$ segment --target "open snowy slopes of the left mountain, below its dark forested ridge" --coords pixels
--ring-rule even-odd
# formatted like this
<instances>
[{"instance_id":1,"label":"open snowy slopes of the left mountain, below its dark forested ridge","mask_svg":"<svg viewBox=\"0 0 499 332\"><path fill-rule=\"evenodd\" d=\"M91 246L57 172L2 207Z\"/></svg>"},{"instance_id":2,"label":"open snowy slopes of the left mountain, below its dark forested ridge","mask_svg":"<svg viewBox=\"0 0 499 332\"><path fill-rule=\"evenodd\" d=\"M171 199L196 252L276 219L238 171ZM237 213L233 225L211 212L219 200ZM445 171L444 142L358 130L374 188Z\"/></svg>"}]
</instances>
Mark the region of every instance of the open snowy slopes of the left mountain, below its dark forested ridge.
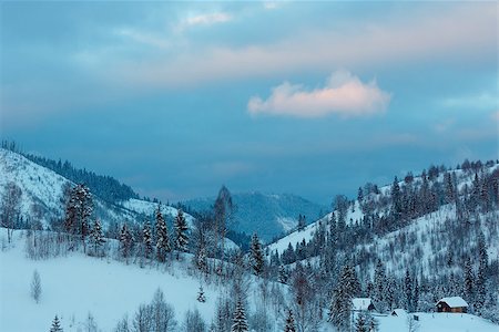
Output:
<instances>
[{"instance_id":1,"label":"open snowy slopes of the left mountain, below its dark forested ridge","mask_svg":"<svg viewBox=\"0 0 499 332\"><path fill-rule=\"evenodd\" d=\"M44 226L63 216L65 190L74 186L55 172L18 153L0 148L0 197L9 183L14 183L21 189L21 217L24 220L38 218ZM157 208L157 204L134 198L118 204L108 203L95 195L93 198L95 214L104 225L125 220L141 222L145 217L151 219ZM177 214L177 209L170 206L162 206L162 211L170 218ZM186 215L186 219L192 225L193 217Z\"/></svg>"}]
</instances>

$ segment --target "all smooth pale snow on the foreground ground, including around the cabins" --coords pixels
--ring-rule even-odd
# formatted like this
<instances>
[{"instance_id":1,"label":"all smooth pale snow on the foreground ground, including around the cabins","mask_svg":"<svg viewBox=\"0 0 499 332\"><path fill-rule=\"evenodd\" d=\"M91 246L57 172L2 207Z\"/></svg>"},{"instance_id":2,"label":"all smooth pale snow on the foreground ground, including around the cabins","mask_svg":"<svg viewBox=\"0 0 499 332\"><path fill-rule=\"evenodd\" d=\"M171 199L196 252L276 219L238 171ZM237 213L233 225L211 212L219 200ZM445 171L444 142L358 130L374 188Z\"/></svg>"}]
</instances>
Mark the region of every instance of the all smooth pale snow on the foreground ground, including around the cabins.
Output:
<instances>
[{"instance_id":1,"label":"all smooth pale snow on the foreground ground, including around the cabins","mask_svg":"<svg viewBox=\"0 0 499 332\"><path fill-rule=\"evenodd\" d=\"M43 235L38 235L39 239ZM197 311L205 326L216 319L221 297L231 292L228 286L206 283L190 272L189 255L183 261L172 266L154 267L128 264L116 260L116 252L106 258L93 258L81 252L71 252L42 260L31 260L26 255L26 232L16 231L13 243L6 245L6 232L0 228L0 330L40 331L49 330L52 318L60 318L64 331L115 331L123 318L134 326L140 304L149 303L160 289L167 305L173 308L175 328L167 331L192 332L185 326L186 313ZM112 249L111 252L113 252ZM41 280L41 295L37 303L30 297L30 283L37 270ZM196 300L200 284L204 288L205 302ZM259 286L258 286L259 284ZM274 283L273 283L274 284ZM252 324L257 319L258 305L265 302L257 279L252 278L247 290L247 317ZM274 284L275 287L276 284ZM282 287L285 299L287 287ZM273 291L275 293L275 291ZM7 300L6 300L7 299ZM74 301L78 299L78 301ZM119 299L119 300L116 300ZM267 304L268 332L282 331L283 317ZM30 319L22 314L30 312ZM419 317L419 332L467 332L497 331L498 325L472 314L416 313ZM89 320L89 317L92 319ZM406 317L376 314L379 332L406 331ZM135 330L131 330L135 331ZM201 330L205 331L205 330ZM332 331L328 323L322 322L318 332Z\"/></svg>"}]
</instances>

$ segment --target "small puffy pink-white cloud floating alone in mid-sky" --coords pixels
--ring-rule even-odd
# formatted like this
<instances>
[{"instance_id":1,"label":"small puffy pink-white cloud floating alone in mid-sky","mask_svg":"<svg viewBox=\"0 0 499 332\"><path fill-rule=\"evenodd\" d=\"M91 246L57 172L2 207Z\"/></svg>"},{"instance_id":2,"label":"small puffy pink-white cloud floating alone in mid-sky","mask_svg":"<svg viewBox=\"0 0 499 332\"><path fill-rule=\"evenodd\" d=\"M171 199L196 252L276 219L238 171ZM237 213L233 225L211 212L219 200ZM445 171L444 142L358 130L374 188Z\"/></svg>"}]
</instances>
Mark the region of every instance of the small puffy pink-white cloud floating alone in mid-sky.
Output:
<instances>
[{"instance_id":1,"label":"small puffy pink-white cloud floating alone in mid-sky","mask_svg":"<svg viewBox=\"0 0 499 332\"><path fill-rule=\"evenodd\" d=\"M251 114L320 117L327 114L361 116L384 112L390 94L375 81L363 83L347 71L337 71L324 87L306 90L303 85L284 82L272 90L267 100L254 96L247 104Z\"/></svg>"}]
</instances>

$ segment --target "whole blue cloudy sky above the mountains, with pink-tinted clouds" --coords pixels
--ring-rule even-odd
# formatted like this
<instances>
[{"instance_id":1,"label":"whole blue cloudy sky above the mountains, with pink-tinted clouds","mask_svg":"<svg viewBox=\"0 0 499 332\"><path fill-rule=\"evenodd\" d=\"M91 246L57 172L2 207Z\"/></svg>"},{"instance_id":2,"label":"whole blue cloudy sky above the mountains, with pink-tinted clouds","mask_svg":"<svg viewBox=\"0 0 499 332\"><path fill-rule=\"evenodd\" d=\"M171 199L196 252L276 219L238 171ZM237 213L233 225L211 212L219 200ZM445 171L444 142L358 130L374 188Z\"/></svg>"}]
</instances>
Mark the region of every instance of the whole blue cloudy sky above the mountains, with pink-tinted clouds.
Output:
<instances>
[{"instance_id":1,"label":"whole blue cloudy sky above the mountains, with pink-tinted clouds","mask_svg":"<svg viewBox=\"0 0 499 332\"><path fill-rule=\"evenodd\" d=\"M162 200L498 157L498 3L0 2L0 136Z\"/></svg>"}]
</instances>

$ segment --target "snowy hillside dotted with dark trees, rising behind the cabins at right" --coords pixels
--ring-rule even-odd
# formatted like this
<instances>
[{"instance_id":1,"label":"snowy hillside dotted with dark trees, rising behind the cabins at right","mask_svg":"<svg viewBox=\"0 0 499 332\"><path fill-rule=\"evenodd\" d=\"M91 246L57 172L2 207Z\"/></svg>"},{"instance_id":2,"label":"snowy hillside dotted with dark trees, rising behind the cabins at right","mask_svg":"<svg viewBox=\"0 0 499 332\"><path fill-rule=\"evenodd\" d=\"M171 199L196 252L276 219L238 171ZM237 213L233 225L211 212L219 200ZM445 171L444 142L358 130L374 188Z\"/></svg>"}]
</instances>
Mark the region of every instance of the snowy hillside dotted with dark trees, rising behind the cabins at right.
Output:
<instances>
[{"instance_id":1,"label":"snowy hillside dotted with dark trees, rising behind the cabins at right","mask_svg":"<svg viewBox=\"0 0 499 332\"><path fill-rule=\"evenodd\" d=\"M337 197L333 212L268 245L267 261L279 280L297 270L315 276L318 292L355 287L345 279L354 273L355 292L380 312L429 312L459 295L468 312L499 322L498 169L465 160L380 188L367 184L358 199Z\"/></svg>"}]
</instances>

